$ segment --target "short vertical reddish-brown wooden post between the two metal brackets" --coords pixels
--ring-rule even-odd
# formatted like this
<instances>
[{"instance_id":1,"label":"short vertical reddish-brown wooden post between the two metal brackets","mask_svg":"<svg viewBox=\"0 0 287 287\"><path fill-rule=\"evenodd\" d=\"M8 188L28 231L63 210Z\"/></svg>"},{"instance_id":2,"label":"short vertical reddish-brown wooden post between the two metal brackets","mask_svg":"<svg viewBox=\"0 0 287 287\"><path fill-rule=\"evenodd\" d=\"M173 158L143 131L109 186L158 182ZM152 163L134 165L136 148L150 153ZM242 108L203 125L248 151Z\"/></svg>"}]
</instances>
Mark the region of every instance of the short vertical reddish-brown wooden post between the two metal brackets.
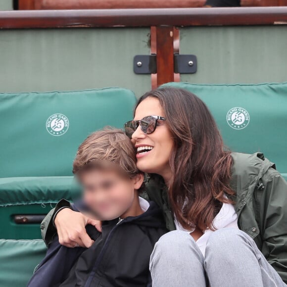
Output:
<instances>
[{"instance_id":1,"label":"short vertical reddish-brown wooden post between the two metal brackets","mask_svg":"<svg viewBox=\"0 0 287 287\"><path fill-rule=\"evenodd\" d=\"M157 86L174 81L173 26L156 27Z\"/></svg>"}]
</instances>

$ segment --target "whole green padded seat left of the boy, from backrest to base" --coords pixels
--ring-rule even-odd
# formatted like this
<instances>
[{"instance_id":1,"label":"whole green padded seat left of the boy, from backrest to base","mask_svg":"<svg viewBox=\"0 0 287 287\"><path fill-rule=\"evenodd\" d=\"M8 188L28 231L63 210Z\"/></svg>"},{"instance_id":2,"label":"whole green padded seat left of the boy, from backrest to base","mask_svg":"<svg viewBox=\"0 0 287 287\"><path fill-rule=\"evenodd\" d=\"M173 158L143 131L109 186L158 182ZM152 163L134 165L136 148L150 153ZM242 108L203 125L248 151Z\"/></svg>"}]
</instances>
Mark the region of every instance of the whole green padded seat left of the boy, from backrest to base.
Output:
<instances>
[{"instance_id":1,"label":"whole green padded seat left of the boy, from backrest to base","mask_svg":"<svg viewBox=\"0 0 287 287\"><path fill-rule=\"evenodd\" d=\"M72 162L79 144L106 125L121 128L135 102L120 88L0 94L1 287L26 286L44 257L33 220L59 199L77 196Z\"/></svg>"}]
</instances>

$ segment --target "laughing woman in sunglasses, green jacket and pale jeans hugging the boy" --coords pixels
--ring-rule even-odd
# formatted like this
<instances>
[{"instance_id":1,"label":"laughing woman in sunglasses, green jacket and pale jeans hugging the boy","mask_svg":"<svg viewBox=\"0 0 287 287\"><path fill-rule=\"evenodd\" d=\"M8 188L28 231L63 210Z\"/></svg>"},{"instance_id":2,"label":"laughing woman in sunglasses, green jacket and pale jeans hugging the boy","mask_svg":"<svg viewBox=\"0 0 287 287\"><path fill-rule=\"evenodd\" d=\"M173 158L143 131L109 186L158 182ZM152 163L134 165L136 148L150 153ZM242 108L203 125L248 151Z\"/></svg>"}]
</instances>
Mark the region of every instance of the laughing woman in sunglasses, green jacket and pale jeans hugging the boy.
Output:
<instances>
[{"instance_id":1,"label":"laughing woman in sunglasses, green jacket and pale jeans hugging the boy","mask_svg":"<svg viewBox=\"0 0 287 287\"><path fill-rule=\"evenodd\" d=\"M171 231L150 258L154 287L286 286L287 183L273 163L225 149L206 105L181 89L146 93L125 130ZM85 225L100 223L63 207L44 239L53 218L62 244L89 247Z\"/></svg>"}]
</instances>

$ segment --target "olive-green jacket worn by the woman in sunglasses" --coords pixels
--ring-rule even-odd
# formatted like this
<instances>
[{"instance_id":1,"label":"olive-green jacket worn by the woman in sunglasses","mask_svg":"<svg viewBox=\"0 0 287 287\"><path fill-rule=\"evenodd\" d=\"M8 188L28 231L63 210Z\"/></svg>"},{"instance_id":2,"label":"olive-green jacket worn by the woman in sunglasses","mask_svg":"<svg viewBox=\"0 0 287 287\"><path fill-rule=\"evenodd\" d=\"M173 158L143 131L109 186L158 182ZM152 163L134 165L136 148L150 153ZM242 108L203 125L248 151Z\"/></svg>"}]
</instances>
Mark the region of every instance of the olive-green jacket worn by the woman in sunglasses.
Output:
<instances>
[{"instance_id":1,"label":"olive-green jacket worn by the woman in sunglasses","mask_svg":"<svg viewBox=\"0 0 287 287\"><path fill-rule=\"evenodd\" d=\"M275 164L260 152L233 152L231 187L236 193L239 228L253 238L268 262L287 283L287 182ZM174 230L167 189L155 180L145 183L148 197L161 208L168 230ZM59 208L57 206L56 208ZM49 243L56 230L52 210L43 220L42 237Z\"/></svg>"}]
</instances>

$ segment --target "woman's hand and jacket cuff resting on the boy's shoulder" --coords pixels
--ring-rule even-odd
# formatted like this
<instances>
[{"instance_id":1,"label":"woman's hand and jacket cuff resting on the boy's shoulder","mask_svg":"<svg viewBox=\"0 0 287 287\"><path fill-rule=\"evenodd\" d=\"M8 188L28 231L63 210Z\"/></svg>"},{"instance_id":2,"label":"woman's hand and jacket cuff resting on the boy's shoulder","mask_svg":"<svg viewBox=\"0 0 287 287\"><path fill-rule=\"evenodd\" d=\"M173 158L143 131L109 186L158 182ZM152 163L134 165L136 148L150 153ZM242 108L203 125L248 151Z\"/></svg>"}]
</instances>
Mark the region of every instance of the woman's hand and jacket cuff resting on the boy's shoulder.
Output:
<instances>
[{"instance_id":1,"label":"woman's hand and jacket cuff resting on the boy's shoulder","mask_svg":"<svg viewBox=\"0 0 287 287\"><path fill-rule=\"evenodd\" d=\"M75 247L79 244L82 247L89 248L94 242L86 232L86 226L89 224L95 226L101 232L100 221L72 210L70 203L62 199L42 221L42 238L48 245L57 233L61 245Z\"/></svg>"}]
</instances>

